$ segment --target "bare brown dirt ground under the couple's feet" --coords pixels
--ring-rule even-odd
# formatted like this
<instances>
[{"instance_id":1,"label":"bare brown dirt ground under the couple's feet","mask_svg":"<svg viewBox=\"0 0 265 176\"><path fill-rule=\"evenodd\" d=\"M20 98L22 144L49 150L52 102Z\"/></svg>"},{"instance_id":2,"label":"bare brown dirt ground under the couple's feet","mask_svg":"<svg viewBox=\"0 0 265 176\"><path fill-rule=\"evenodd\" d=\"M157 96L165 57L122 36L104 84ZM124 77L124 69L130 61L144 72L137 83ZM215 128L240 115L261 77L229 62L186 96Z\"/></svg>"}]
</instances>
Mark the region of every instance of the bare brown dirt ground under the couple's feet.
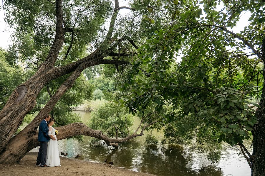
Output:
<instances>
[{"instance_id":1,"label":"bare brown dirt ground under the couple's feet","mask_svg":"<svg viewBox=\"0 0 265 176\"><path fill-rule=\"evenodd\" d=\"M143 172L134 172L119 167L92 163L88 161L60 157L61 167L36 166L37 153L29 152L20 164L0 165L1 176L41 176L41 175L86 175L86 176L155 176Z\"/></svg>"}]
</instances>

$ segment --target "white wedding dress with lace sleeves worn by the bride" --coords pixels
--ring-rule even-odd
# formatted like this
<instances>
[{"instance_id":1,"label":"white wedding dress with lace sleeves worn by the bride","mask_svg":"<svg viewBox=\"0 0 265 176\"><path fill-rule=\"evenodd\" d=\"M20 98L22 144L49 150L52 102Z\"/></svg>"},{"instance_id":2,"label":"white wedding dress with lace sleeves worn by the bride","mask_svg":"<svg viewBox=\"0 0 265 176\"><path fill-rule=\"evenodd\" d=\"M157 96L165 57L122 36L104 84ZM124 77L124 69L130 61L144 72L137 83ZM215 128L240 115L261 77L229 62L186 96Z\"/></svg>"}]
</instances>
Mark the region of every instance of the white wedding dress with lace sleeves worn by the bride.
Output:
<instances>
[{"instance_id":1,"label":"white wedding dress with lace sleeves worn by the bride","mask_svg":"<svg viewBox=\"0 0 265 176\"><path fill-rule=\"evenodd\" d=\"M55 129L52 126L49 127L49 136L50 135L52 135L55 140L50 138L48 142L46 165L50 167L61 166Z\"/></svg>"}]
</instances>

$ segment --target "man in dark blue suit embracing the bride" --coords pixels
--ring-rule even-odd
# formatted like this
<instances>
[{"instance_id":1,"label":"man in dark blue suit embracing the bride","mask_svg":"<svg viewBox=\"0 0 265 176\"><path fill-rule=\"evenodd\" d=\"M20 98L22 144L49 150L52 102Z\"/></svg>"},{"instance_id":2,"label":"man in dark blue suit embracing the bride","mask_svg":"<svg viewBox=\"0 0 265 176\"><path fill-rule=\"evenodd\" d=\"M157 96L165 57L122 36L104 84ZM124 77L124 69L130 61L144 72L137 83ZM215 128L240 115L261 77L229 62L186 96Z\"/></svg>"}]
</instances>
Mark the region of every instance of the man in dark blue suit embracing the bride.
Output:
<instances>
[{"instance_id":1,"label":"man in dark blue suit embracing the bride","mask_svg":"<svg viewBox=\"0 0 265 176\"><path fill-rule=\"evenodd\" d=\"M50 137L48 135L49 128L47 122L50 119L51 116L49 114L46 114L44 116L44 119L39 124L39 135L38 135L39 153L36 165L38 166L41 163L41 167L49 167L46 165L46 154L47 154L48 141L50 140Z\"/></svg>"}]
</instances>

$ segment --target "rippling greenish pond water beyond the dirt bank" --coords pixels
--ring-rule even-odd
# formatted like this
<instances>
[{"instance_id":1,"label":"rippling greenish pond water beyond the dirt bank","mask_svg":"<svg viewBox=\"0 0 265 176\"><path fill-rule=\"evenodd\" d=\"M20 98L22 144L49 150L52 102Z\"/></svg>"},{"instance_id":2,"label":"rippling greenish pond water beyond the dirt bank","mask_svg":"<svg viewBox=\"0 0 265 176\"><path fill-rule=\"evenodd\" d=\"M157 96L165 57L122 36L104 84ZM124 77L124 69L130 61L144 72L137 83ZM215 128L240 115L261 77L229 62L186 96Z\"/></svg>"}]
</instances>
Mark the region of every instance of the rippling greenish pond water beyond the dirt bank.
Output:
<instances>
[{"instance_id":1,"label":"rippling greenish pond water beyond the dirt bank","mask_svg":"<svg viewBox=\"0 0 265 176\"><path fill-rule=\"evenodd\" d=\"M75 111L82 116L83 123L87 123L90 112ZM136 129L139 121L135 120L132 128ZM144 134L147 134L145 132ZM156 131L152 132L159 140L163 135ZM242 154L238 155L239 148L231 147L223 143L221 149L221 160L217 164L205 159L198 151L191 151L189 146L179 148L163 149L161 145L157 148L147 148L145 136L137 137L126 143L119 144L119 148L109 147L100 141L101 145L91 145L93 139L84 136L83 142L63 139L58 141L59 152L67 152L68 158L74 158L80 154L80 160L104 163L104 158L112 161L116 167L122 167L133 171L147 172L158 176L249 176L251 170ZM247 148L251 141L245 141ZM37 152L34 148L31 151Z\"/></svg>"}]
</instances>

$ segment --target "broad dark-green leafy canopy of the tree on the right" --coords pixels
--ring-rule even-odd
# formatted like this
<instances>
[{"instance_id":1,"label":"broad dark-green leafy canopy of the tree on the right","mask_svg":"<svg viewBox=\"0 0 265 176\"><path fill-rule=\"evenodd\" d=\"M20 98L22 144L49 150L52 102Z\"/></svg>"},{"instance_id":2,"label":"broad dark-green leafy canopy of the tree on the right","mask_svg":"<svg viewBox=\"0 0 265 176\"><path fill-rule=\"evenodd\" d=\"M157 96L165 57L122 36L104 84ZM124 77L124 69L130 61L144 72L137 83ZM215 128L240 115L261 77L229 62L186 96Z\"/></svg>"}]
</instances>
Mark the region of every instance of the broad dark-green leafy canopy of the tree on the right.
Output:
<instances>
[{"instance_id":1,"label":"broad dark-green leafy canopy of the tree on the right","mask_svg":"<svg viewBox=\"0 0 265 176\"><path fill-rule=\"evenodd\" d=\"M217 11L221 2L223 11ZM126 106L132 113L144 112L153 103L158 112L163 105L173 104L178 111L165 116L164 123L182 119L192 122L189 116L194 116L211 132L213 142L225 141L233 146L250 139L250 131L257 122L255 109L249 104L259 97L263 83L263 68L259 67L262 60L257 53L261 53L264 31L264 20L258 14L265 4L200 4L203 7L190 1L177 24L155 31L139 49L122 90L130 86L136 90L126 97ZM250 25L235 34L228 28L236 25L244 10L253 14ZM248 48L251 50L245 52ZM180 54L183 57L176 62ZM203 125L198 130L203 131Z\"/></svg>"}]
</instances>

